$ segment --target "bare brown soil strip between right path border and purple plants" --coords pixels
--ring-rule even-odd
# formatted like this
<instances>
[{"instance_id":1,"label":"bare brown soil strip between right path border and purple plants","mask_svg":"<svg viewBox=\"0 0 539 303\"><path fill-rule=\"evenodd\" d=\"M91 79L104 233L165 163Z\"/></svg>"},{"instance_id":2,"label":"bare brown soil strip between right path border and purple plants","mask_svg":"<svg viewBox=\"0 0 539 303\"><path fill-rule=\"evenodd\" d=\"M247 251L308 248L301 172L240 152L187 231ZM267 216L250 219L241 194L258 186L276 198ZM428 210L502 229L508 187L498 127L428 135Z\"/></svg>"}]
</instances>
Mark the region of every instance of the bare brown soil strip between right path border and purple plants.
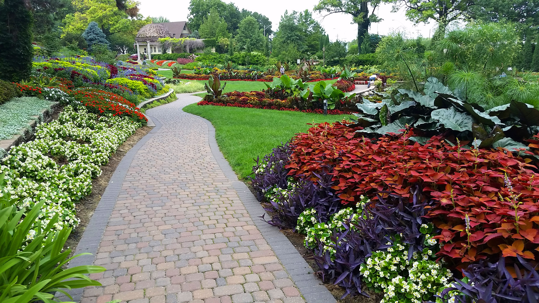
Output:
<instances>
[{"instance_id":1,"label":"bare brown soil strip between right path border and purple plants","mask_svg":"<svg viewBox=\"0 0 539 303\"><path fill-rule=\"evenodd\" d=\"M253 193L254 196L257 196L257 192L254 190L254 188L251 185L251 181L243 180L248 188L250 189L251 193ZM265 205L265 203L262 203L262 206L267 207L271 206L269 204ZM266 212L267 213L267 212ZM269 216L269 213L267 213ZM268 217L266 217L267 219ZM333 297L337 300L338 303L378 303L383 298L383 293L372 293L368 290L363 290L363 292L370 295L370 298L366 297L365 295L356 295L355 297L351 297L348 295L347 297L341 299L342 295L344 294L344 288L338 285L335 285L333 283L330 283L329 279L326 278L326 280L322 280L322 275L320 273L320 267L316 265L316 262L313 258L313 253L310 252L305 246L303 246L303 240L305 239L304 235L300 235L297 232L294 232L292 229L281 229L282 234L284 234L288 241L292 243L292 245L295 246L295 248L298 250L298 252L301 254L303 259L309 264L309 266L315 271L315 275L322 281L324 286L328 288L328 291L333 294Z\"/></svg>"}]
</instances>

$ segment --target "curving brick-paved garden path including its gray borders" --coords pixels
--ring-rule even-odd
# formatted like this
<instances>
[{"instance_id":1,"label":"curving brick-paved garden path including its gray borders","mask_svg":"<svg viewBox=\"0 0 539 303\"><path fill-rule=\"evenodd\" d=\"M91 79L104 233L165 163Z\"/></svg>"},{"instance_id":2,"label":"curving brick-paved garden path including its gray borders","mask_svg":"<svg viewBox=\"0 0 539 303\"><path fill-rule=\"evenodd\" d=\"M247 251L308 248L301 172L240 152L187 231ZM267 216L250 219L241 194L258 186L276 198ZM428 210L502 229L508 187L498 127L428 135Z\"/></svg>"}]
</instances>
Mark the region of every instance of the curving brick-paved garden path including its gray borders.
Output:
<instances>
[{"instance_id":1,"label":"curving brick-paved garden path including its gray borders","mask_svg":"<svg viewBox=\"0 0 539 303\"><path fill-rule=\"evenodd\" d=\"M71 266L106 267L81 303L335 302L219 152L215 130L182 111L149 109L156 127L126 154Z\"/></svg>"}]
</instances>

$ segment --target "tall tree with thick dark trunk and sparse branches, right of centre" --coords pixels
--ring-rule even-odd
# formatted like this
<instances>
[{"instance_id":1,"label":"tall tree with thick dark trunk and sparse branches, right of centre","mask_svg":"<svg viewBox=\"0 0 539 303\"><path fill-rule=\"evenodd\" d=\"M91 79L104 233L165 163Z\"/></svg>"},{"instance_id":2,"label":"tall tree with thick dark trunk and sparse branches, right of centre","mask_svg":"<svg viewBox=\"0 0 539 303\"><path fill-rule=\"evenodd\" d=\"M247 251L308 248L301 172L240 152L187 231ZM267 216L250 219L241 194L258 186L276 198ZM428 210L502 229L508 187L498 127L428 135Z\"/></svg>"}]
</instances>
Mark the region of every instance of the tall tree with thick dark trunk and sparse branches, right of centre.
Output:
<instances>
[{"instance_id":1,"label":"tall tree with thick dark trunk and sparse branches, right of centre","mask_svg":"<svg viewBox=\"0 0 539 303\"><path fill-rule=\"evenodd\" d=\"M369 31L371 22L379 22L379 19L374 11L380 0L320 0L314 7L315 11L326 12L325 16L333 13L347 13L351 15L354 23L357 24L357 43L361 45L365 33ZM369 5L373 13L369 15Z\"/></svg>"}]
</instances>

